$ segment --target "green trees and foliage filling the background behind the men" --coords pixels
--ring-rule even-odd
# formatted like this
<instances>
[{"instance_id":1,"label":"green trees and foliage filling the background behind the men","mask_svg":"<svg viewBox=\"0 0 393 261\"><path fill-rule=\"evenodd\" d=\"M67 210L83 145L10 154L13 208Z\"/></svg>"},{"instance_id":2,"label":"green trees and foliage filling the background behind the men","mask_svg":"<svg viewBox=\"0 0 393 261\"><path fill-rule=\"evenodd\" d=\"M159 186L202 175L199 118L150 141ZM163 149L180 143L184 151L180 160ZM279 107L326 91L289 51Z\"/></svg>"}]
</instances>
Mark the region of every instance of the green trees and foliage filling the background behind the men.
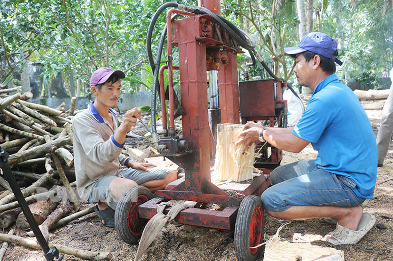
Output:
<instances>
[{"instance_id":1,"label":"green trees and foliage filling the background behind the men","mask_svg":"<svg viewBox=\"0 0 393 261\"><path fill-rule=\"evenodd\" d=\"M197 5L197 0L172 1ZM46 77L63 72L86 83L92 71L104 66L141 79L140 70L148 68L148 26L165 2L2 0L0 83L16 77L27 59L41 63ZM296 46L300 36L310 31L337 40L344 61L338 73L343 78L380 76L393 66L392 0L222 0L221 8L222 16L252 34L256 50L285 79L293 75L293 60L283 48ZM164 25L162 15L153 45ZM250 57L238 57L242 75ZM253 71L254 76L258 71Z\"/></svg>"}]
</instances>

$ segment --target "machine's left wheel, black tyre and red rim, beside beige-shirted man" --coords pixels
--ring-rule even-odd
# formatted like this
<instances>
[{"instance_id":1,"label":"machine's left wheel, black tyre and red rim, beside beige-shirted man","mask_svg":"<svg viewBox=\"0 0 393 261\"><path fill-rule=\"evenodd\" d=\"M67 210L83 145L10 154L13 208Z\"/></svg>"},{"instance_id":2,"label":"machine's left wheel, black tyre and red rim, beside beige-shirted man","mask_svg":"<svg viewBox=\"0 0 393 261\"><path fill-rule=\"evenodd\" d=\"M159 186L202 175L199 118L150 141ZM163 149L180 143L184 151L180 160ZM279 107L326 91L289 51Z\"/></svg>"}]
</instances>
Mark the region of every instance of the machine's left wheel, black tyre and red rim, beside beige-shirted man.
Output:
<instances>
[{"instance_id":1,"label":"machine's left wheel, black tyre and red rim, beside beige-shirted man","mask_svg":"<svg viewBox=\"0 0 393 261\"><path fill-rule=\"evenodd\" d=\"M138 244L147 219L139 218L139 206L153 198L153 193L142 186L127 190L117 202L114 212L114 227L117 235L129 244Z\"/></svg>"}]
</instances>

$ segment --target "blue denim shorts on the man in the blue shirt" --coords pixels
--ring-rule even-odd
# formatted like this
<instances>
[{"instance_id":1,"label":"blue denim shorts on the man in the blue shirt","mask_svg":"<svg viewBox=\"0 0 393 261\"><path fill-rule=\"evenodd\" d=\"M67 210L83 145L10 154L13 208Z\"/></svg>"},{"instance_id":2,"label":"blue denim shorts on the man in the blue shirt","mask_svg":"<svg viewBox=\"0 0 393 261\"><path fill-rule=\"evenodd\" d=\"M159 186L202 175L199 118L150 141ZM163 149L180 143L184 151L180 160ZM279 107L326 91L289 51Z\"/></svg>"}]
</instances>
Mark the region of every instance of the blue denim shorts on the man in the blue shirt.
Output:
<instances>
[{"instance_id":1,"label":"blue denim shorts on the man in the blue shirt","mask_svg":"<svg viewBox=\"0 0 393 261\"><path fill-rule=\"evenodd\" d=\"M355 207L365 201L352 191L356 187L353 180L316 167L314 160L279 166L270 178L273 186L261 199L264 209L272 212L291 206Z\"/></svg>"}]
</instances>

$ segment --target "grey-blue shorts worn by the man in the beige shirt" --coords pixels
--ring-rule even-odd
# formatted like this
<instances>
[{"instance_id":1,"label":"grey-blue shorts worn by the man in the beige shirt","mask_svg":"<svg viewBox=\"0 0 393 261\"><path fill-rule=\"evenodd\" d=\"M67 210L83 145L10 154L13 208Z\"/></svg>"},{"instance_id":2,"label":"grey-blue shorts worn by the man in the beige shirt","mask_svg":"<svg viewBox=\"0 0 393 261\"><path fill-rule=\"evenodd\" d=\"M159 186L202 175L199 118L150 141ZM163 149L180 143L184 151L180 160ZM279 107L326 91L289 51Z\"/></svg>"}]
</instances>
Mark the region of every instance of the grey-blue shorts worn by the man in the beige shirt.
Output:
<instances>
[{"instance_id":1,"label":"grey-blue shorts worn by the man in the beige shirt","mask_svg":"<svg viewBox=\"0 0 393 261\"><path fill-rule=\"evenodd\" d=\"M100 178L91 189L88 199L89 203L107 202L112 209L116 208L117 200L109 189L109 184L115 178L126 178L135 181L138 185L151 180L165 179L172 168L168 167L147 167L148 171L141 169L128 168L120 171L116 176L106 176Z\"/></svg>"}]
</instances>

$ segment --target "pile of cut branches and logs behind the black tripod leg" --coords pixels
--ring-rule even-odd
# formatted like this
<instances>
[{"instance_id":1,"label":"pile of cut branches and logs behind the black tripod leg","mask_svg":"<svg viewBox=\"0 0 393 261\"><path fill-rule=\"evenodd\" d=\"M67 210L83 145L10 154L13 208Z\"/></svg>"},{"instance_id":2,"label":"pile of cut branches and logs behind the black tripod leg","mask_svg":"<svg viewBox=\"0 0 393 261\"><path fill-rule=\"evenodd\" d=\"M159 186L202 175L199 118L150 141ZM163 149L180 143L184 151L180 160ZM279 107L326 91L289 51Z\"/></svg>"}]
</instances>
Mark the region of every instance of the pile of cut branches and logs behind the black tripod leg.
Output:
<instances>
[{"instance_id":1,"label":"pile of cut branches and logs behind the black tripod leg","mask_svg":"<svg viewBox=\"0 0 393 261\"><path fill-rule=\"evenodd\" d=\"M16 94L10 94L13 92ZM94 210L79 211L79 197L71 188L75 186L72 118L76 97L71 98L68 111L65 111L64 103L54 109L28 102L31 97L30 92L21 95L17 88L0 90L0 146L9 154L9 167L49 241L50 229ZM1 175L0 190L0 228L4 230L16 221L18 229L28 230L30 226L8 182ZM76 213L66 216L71 212ZM31 232L28 234L34 236ZM38 246L30 239L7 234L0 234L0 240L31 248ZM90 260L110 259L112 256L66 246L56 245L56 248Z\"/></svg>"}]
</instances>

